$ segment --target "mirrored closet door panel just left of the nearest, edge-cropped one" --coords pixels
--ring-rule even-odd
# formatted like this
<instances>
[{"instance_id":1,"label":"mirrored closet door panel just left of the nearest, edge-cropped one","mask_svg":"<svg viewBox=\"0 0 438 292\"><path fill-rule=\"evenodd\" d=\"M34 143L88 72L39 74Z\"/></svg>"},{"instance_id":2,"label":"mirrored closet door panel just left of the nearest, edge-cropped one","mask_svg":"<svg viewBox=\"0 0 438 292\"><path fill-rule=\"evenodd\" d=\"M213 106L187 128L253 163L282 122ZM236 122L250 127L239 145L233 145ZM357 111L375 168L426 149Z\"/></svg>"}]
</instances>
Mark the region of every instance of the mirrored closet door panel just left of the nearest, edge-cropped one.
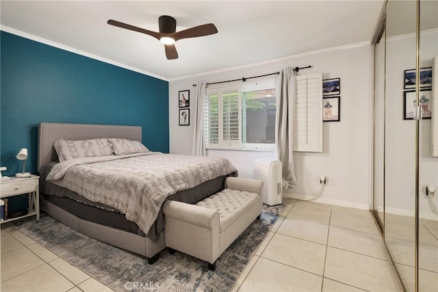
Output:
<instances>
[{"instance_id":1,"label":"mirrored closet door panel just left of the nearest, edge-cropped one","mask_svg":"<svg viewBox=\"0 0 438 292\"><path fill-rule=\"evenodd\" d=\"M416 7L416 1L388 1L385 21L384 234L391 258L409 291L413 290L407 287L415 282L417 121L415 81L405 80L404 74L415 75Z\"/></svg>"}]
</instances>

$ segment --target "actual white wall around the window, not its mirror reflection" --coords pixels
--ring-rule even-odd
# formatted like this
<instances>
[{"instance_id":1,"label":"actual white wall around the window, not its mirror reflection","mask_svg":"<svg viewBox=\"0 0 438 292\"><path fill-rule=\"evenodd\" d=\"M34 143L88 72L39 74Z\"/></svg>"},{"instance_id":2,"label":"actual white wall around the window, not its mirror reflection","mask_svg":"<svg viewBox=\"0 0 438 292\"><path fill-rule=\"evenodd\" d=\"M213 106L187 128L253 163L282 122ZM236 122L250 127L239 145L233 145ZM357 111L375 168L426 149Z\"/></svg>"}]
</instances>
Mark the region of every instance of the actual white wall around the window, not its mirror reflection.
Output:
<instances>
[{"instance_id":1,"label":"actual white wall around the window, not its mirror reflection","mask_svg":"<svg viewBox=\"0 0 438 292\"><path fill-rule=\"evenodd\" d=\"M197 82L218 82L278 72L287 66L309 66L299 74L322 72L323 79L341 78L340 122L324 123L324 152L295 152L298 186L294 195L313 195L320 188L320 175L333 185L326 186L322 202L368 208L372 194L372 55L371 46L309 53L269 64L213 73L169 82L170 153L192 154L194 98ZM190 89L190 126L178 125L178 92ZM209 150L237 167L241 177L251 178L256 158L272 158L266 151Z\"/></svg>"}]
</instances>

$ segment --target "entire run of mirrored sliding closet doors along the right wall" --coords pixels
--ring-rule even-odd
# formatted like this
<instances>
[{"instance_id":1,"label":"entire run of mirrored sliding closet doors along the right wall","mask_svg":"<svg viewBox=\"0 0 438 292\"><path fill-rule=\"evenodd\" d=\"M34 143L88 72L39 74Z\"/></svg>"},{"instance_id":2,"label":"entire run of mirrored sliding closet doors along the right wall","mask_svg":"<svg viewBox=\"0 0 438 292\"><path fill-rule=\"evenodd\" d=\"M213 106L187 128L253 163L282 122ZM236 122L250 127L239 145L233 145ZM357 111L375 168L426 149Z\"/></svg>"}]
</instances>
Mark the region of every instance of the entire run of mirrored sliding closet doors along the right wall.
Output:
<instances>
[{"instance_id":1,"label":"entire run of mirrored sliding closet doors along the right wall","mask_svg":"<svg viewBox=\"0 0 438 292\"><path fill-rule=\"evenodd\" d=\"M374 212L405 289L437 291L438 195L430 191L438 188L438 1L389 0L381 21L374 45Z\"/></svg>"}]
</instances>

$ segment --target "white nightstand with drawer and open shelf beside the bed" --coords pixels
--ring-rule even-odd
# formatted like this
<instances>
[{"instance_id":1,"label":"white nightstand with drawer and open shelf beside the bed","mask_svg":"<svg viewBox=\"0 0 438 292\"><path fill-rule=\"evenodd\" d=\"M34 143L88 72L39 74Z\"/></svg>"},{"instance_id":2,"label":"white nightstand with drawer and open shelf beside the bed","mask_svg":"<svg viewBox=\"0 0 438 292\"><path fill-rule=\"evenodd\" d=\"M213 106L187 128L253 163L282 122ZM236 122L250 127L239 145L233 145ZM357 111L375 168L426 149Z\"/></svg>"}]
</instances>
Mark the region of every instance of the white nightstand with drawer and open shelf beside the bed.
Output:
<instances>
[{"instance_id":1,"label":"white nightstand with drawer and open shelf beside the bed","mask_svg":"<svg viewBox=\"0 0 438 292\"><path fill-rule=\"evenodd\" d=\"M6 223L36 215L36 219L40 220L40 177L31 175L29 178L9 178L0 182L0 198L12 197L15 195L23 195L29 193L29 209L27 215L20 217L0 220L0 223Z\"/></svg>"}]
</instances>

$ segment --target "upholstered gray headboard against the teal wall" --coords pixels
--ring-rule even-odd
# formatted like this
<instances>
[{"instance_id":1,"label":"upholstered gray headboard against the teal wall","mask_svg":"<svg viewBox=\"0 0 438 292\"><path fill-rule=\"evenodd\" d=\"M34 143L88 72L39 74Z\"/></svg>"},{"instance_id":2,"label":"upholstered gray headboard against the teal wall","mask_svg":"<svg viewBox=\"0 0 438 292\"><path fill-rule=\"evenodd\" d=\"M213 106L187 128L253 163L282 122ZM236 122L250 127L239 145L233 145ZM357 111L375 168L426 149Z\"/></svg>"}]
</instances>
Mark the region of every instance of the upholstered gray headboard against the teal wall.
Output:
<instances>
[{"instance_id":1,"label":"upholstered gray headboard against the teal wall","mask_svg":"<svg viewBox=\"0 0 438 292\"><path fill-rule=\"evenodd\" d=\"M41 171L43 165L58 159L53 143L60 138L64 140L123 138L142 142L142 127L130 125L40 123L38 127L38 171Z\"/></svg>"}]
</instances>

